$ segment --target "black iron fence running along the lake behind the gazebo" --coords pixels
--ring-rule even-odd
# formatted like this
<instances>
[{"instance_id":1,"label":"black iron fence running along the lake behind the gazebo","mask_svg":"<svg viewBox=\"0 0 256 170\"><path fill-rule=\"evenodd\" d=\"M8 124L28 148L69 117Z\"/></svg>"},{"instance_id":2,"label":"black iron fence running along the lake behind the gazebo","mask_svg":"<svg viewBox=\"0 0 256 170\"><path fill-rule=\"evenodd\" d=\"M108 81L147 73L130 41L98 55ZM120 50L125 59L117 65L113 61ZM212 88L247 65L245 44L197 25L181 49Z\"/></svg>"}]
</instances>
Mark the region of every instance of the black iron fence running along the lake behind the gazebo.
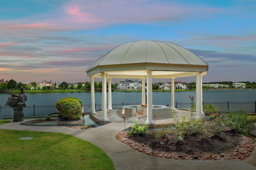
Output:
<instances>
[{"instance_id":1,"label":"black iron fence running along the lake behind the gazebo","mask_svg":"<svg viewBox=\"0 0 256 170\"><path fill-rule=\"evenodd\" d=\"M126 105L138 105L140 103L115 103L112 104L112 109L121 109L122 106ZM228 110L232 111L240 111L243 110L244 113L256 113L256 101L254 102L203 102L204 104L211 104L219 109L221 113L227 113ZM175 108L177 109L190 109L191 103L182 103L176 102ZM101 110L101 104L95 104L96 111ZM91 105L82 105L84 112L90 112ZM55 105L50 106L26 106L23 107L24 117L40 117L46 116L51 113L58 113L58 109L56 109ZM0 120L4 118L13 117L13 108L9 106L0 106Z\"/></svg>"}]
</instances>

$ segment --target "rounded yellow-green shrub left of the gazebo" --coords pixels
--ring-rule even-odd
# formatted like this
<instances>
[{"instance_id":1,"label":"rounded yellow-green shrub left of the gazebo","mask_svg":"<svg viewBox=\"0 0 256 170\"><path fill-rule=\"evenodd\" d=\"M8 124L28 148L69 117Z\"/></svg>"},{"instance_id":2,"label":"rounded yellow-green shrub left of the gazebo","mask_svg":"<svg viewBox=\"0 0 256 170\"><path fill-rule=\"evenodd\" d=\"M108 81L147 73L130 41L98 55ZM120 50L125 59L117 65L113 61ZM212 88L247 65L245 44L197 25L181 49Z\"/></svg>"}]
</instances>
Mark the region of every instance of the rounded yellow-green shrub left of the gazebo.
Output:
<instances>
[{"instance_id":1,"label":"rounded yellow-green shrub left of the gazebo","mask_svg":"<svg viewBox=\"0 0 256 170\"><path fill-rule=\"evenodd\" d=\"M60 113L58 117L65 120L78 120L82 117L82 101L77 98L64 98L56 102L56 108Z\"/></svg>"}]
</instances>

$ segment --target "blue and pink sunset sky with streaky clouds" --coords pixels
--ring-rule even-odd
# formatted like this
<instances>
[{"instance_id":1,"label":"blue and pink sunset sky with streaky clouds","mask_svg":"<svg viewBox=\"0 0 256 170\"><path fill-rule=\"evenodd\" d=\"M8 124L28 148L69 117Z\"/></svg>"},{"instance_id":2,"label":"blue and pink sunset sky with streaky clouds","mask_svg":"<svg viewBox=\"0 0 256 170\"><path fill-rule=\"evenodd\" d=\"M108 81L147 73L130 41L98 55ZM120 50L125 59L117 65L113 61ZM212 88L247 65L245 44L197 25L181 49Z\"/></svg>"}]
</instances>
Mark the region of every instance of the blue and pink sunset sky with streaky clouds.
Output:
<instances>
[{"instance_id":1,"label":"blue and pink sunset sky with streaky clouds","mask_svg":"<svg viewBox=\"0 0 256 170\"><path fill-rule=\"evenodd\" d=\"M155 40L203 59L203 82L256 82L255 9L255 0L1 0L0 79L90 82L85 71L102 55Z\"/></svg>"}]
</instances>

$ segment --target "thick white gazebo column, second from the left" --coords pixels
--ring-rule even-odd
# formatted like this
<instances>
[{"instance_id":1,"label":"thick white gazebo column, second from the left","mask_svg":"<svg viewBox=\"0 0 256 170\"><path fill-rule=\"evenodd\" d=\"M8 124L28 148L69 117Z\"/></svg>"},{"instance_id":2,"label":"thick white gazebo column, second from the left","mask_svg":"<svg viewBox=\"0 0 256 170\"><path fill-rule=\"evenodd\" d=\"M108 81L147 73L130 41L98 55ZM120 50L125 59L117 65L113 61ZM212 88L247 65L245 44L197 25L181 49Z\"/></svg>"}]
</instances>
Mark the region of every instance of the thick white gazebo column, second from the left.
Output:
<instances>
[{"instance_id":1,"label":"thick white gazebo column, second from the left","mask_svg":"<svg viewBox=\"0 0 256 170\"><path fill-rule=\"evenodd\" d=\"M108 121L107 117L107 74L102 73L102 111L101 121Z\"/></svg>"}]
</instances>

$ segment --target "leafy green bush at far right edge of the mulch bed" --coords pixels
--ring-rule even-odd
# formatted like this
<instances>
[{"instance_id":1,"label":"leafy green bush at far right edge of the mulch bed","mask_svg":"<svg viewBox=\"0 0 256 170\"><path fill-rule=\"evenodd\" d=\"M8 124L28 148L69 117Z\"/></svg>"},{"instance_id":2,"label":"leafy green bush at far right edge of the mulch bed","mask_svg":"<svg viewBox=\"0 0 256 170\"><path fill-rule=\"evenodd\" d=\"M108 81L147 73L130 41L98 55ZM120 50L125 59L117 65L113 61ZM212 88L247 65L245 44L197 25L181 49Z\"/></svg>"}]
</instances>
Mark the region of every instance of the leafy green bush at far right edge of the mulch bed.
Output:
<instances>
[{"instance_id":1,"label":"leafy green bush at far right edge of the mulch bed","mask_svg":"<svg viewBox=\"0 0 256 170\"><path fill-rule=\"evenodd\" d=\"M227 115L224 115L224 124L226 127L230 127L232 131L245 136L248 136L255 129L254 120L248 119L247 115L243 114L242 111L235 113L230 110Z\"/></svg>"}]
</instances>

